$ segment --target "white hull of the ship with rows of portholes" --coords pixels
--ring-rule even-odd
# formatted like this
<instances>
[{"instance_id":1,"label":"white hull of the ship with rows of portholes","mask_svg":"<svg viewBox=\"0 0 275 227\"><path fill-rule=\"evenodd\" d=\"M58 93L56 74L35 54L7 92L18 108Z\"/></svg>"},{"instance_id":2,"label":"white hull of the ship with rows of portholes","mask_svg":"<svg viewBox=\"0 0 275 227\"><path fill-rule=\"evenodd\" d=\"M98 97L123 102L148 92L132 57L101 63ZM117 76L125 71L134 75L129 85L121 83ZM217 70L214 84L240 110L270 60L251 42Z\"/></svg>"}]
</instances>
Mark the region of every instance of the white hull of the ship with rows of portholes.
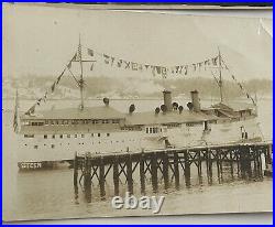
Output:
<instances>
[{"instance_id":1,"label":"white hull of the ship with rows of portholes","mask_svg":"<svg viewBox=\"0 0 275 227\"><path fill-rule=\"evenodd\" d=\"M59 162L69 161L74 159L76 152L92 154L120 153L120 152L139 152L152 149L164 149L165 139L173 148L194 147L202 144L223 144L241 142L242 138L241 127L244 127L248 132L248 140L261 140L262 134L256 122L256 119L248 119L235 122L219 122L210 125L210 130L204 131L202 125L186 126L182 125L175 128L168 128L158 133L146 133L145 127L142 131L114 131L58 134L55 139L48 134L44 139L43 134L37 134L34 138L24 138L23 134L19 137L19 163L40 163L40 162ZM100 137L99 137L100 136ZM36 165L35 165L36 166ZM37 164L42 166L42 164Z\"/></svg>"}]
</instances>

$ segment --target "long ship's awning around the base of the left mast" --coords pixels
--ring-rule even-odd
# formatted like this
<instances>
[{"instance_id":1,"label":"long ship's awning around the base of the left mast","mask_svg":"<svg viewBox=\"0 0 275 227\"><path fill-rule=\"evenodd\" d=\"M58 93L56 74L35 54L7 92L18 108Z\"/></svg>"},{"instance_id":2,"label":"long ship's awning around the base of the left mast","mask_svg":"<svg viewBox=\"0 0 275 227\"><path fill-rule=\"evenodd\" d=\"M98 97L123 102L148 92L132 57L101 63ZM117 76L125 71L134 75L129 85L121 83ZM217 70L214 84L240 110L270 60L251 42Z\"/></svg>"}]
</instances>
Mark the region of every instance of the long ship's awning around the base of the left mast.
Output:
<instances>
[{"instance_id":1,"label":"long ship's awning around the base of the left mast","mask_svg":"<svg viewBox=\"0 0 275 227\"><path fill-rule=\"evenodd\" d=\"M34 116L22 116L22 119L124 119L124 115L112 107L85 107L82 110L77 108L53 109L35 112Z\"/></svg>"}]
</instances>

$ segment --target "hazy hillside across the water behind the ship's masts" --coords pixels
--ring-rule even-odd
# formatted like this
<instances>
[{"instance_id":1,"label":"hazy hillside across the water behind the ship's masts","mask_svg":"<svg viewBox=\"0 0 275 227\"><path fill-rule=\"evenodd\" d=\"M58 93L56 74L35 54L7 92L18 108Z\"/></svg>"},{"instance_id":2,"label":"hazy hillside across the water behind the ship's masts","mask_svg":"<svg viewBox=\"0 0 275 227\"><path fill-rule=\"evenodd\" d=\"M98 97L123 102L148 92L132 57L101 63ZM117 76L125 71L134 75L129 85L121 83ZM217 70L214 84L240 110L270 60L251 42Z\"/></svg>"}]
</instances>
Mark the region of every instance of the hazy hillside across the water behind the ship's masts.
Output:
<instances>
[{"instance_id":1,"label":"hazy hillside across the water behind the ship's masts","mask_svg":"<svg viewBox=\"0 0 275 227\"><path fill-rule=\"evenodd\" d=\"M45 90L50 90L55 77L52 76L25 76L3 78L3 98L13 98L15 90L23 99L42 97ZM189 96L189 91L197 89L201 97L219 97L219 88L213 79L193 77L179 79L141 79L141 78L111 78L88 77L85 80L86 97L88 98L157 98L166 88L173 91L173 96ZM235 98L243 96L239 86L232 80L224 80L224 96ZM272 95L272 80L251 79L242 83L243 87L254 96ZM79 89L72 77L64 77L55 93L48 98L79 98Z\"/></svg>"}]
</instances>

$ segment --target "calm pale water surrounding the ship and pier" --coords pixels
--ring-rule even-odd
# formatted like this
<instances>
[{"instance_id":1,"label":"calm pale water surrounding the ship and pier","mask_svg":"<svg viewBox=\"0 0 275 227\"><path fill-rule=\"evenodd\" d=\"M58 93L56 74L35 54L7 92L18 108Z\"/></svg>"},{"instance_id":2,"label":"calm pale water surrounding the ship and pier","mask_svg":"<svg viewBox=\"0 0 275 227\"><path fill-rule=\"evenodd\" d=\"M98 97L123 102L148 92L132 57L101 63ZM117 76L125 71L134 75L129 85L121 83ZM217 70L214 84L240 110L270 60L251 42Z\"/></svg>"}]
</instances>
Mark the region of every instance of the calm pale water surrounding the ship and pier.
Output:
<instances>
[{"instance_id":1,"label":"calm pale water surrounding the ship and pier","mask_svg":"<svg viewBox=\"0 0 275 227\"><path fill-rule=\"evenodd\" d=\"M75 105L74 101L55 102L57 102L56 107L61 105ZM100 100L89 102L90 105L101 104ZM154 109L162 101L113 100L111 105L121 111L127 111L132 102L136 104L138 111L143 111L148 107ZM11 128L13 118L12 105L13 101L3 101L2 110L4 220L152 215L152 210L113 209L110 203L113 192L111 177L107 179L107 199L100 201L99 186L96 182L91 192L92 199L88 203L81 187L78 187L78 193L76 194L73 186L72 170L18 172L15 161L18 151L14 145L14 132ZM25 104L21 106L25 106ZM272 99L261 100L258 105L258 121L261 122L266 140L272 140ZM157 195L165 195L165 201L160 215L272 210L272 179L264 177L261 182L248 182L231 181L228 177L228 181L219 184L218 179L213 175L213 184L209 186L206 174L202 175L202 184L199 184L196 171L191 171L191 174L190 188L185 186L183 174L180 174L179 191L172 187L168 193L164 193L161 182ZM224 180L227 180L227 173L224 174ZM124 195L125 190L125 186L123 186L121 195ZM134 179L134 193L136 196L139 196L139 179ZM151 191L151 183L147 182L147 195L152 195Z\"/></svg>"}]
</instances>

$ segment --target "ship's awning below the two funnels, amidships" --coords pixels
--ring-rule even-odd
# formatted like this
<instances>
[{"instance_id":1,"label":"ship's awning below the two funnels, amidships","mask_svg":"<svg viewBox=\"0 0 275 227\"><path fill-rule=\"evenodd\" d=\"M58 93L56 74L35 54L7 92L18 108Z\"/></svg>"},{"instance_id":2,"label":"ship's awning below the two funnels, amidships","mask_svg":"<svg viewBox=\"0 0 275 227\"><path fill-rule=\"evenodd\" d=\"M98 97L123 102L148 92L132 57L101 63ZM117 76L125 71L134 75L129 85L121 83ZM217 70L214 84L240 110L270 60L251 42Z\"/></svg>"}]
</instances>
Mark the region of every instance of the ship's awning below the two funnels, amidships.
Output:
<instances>
[{"instance_id":1,"label":"ship's awning below the two funnels, amidships","mask_svg":"<svg viewBox=\"0 0 275 227\"><path fill-rule=\"evenodd\" d=\"M127 126L146 126L146 125L165 125L165 123L184 123L184 122L202 122L207 120L217 120L216 116L205 115L202 112L194 112L184 110L182 114L178 111L170 112L133 112L128 114L125 117Z\"/></svg>"}]
</instances>

